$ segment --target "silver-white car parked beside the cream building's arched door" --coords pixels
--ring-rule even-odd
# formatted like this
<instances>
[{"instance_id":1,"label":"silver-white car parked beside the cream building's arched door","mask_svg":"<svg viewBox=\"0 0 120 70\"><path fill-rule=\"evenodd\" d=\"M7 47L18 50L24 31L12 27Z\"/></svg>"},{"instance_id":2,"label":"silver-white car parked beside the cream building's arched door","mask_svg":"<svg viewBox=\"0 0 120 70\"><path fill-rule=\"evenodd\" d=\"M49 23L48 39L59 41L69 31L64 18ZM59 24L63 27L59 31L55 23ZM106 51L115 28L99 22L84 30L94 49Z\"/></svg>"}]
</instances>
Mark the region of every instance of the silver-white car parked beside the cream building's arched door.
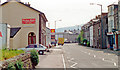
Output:
<instances>
[{"instance_id":1,"label":"silver-white car parked beside the cream building's arched door","mask_svg":"<svg viewBox=\"0 0 120 70\"><path fill-rule=\"evenodd\" d=\"M30 50L35 49L38 54L43 55L45 51L47 51L47 48L41 44L30 44L25 48L19 48L18 50L24 50L26 52L30 52Z\"/></svg>"}]
</instances>

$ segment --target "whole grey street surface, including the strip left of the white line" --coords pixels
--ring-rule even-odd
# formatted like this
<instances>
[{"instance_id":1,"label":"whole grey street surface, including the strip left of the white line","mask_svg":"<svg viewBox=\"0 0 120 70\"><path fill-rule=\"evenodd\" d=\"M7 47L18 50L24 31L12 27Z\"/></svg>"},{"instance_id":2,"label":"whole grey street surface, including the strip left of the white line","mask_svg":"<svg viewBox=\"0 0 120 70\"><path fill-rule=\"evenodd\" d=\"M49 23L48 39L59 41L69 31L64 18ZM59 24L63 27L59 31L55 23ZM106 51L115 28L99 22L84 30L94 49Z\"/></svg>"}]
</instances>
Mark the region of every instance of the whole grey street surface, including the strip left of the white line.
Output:
<instances>
[{"instance_id":1,"label":"whole grey street surface, including the strip left of the white line","mask_svg":"<svg viewBox=\"0 0 120 70\"><path fill-rule=\"evenodd\" d=\"M51 51L39 56L38 68L118 68L118 56L99 49L73 43Z\"/></svg>"}]
</instances>

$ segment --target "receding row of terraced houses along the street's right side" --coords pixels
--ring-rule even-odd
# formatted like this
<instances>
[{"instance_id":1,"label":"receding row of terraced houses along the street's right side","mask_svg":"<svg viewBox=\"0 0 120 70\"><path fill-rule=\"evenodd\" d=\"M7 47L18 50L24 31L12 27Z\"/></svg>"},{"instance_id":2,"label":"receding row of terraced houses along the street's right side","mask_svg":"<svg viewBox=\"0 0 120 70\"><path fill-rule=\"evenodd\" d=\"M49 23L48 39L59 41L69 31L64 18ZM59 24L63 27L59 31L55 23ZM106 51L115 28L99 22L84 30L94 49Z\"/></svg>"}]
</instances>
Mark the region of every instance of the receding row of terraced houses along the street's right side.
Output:
<instances>
[{"instance_id":1,"label":"receding row of terraced houses along the street's right side","mask_svg":"<svg viewBox=\"0 0 120 70\"><path fill-rule=\"evenodd\" d=\"M120 2L108 6L108 12L91 19L81 27L90 46L101 49L120 48Z\"/></svg>"}]
</instances>

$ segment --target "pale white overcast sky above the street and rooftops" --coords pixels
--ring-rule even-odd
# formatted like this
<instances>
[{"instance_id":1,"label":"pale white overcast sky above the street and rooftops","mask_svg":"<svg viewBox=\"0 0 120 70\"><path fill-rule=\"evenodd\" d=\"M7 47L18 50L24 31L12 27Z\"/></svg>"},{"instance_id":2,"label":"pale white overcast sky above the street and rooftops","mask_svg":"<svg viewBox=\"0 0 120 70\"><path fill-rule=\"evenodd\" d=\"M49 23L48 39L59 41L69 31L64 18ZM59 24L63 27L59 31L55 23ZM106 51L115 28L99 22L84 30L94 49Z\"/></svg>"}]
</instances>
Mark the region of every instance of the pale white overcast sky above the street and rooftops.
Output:
<instances>
[{"instance_id":1,"label":"pale white overcast sky above the street and rooftops","mask_svg":"<svg viewBox=\"0 0 120 70\"><path fill-rule=\"evenodd\" d=\"M2 3L6 0L1 0ZM31 7L45 13L51 29L68 26L83 25L96 15L101 13L98 5L90 5L90 3L102 4L103 12L107 12L107 6L117 4L118 0L21 0L29 2ZM61 20L61 21L59 21ZM49 25L48 25L49 24Z\"/></svg>"}]
</instances>

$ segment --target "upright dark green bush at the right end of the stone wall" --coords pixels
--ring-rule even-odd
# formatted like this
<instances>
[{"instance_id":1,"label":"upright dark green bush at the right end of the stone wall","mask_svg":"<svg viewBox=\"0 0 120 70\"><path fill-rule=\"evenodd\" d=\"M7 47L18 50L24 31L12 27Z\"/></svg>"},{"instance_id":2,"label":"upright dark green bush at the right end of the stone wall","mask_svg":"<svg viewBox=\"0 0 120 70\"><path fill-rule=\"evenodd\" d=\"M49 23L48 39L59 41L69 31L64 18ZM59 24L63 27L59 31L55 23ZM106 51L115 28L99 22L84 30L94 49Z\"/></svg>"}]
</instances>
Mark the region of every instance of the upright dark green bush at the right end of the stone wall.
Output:
<instances>
[{"instance_id":1,"label":"upright dark green bush at the right end of the stone wall","mask_svg":"<svg viewBox=\"0 0 120 70\"><path fill-rule=\"evenodd\" d=\"M35 66L39 63L39 57L38 57L38 52L36 50L31 50L31 62L32 62L32 66L33 68L35 68Z\"/></svg>"}]
</instances>

